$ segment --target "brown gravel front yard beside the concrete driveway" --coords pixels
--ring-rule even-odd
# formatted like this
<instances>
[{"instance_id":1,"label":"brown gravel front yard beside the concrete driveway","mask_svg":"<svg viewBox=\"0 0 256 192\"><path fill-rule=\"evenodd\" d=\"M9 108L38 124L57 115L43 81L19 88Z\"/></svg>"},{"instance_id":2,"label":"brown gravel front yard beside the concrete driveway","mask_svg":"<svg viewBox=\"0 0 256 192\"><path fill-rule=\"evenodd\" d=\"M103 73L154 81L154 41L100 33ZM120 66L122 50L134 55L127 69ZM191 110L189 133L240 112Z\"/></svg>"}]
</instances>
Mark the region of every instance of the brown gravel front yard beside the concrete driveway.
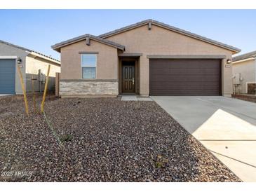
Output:
<instances>
[{"instance_id":1,"label":"brown gravel front yard beside the concrete driveway","mask_svg":"<svg viewBox=\"0 0 256 192\"><path fill-rule=\"evenodd\" d=\"M45 110L53 130L0 97L0 181L240 181L155 102L50 97Z\"/></svg>"}]
</instances>

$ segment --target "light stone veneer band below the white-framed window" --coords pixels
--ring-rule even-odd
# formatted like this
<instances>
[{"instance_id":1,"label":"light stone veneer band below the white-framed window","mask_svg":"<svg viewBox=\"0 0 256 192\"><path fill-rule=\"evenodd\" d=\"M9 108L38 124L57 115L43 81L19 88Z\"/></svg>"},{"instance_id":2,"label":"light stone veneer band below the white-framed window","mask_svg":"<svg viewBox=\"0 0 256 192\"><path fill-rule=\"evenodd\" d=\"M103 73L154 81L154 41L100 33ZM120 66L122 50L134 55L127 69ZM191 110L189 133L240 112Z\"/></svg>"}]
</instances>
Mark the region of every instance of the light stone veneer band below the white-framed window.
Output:
<instances>
[{"instance_id":1,"label":"light stone veneer band below the white-framed window","mask_svg":"<svg viewBox=\"0 0 256 192\"><path fill-rule=\"evenodd\" d=\"M119 95L117 80L60 80L61 95Z\"/></svg>"}]
</instances>

